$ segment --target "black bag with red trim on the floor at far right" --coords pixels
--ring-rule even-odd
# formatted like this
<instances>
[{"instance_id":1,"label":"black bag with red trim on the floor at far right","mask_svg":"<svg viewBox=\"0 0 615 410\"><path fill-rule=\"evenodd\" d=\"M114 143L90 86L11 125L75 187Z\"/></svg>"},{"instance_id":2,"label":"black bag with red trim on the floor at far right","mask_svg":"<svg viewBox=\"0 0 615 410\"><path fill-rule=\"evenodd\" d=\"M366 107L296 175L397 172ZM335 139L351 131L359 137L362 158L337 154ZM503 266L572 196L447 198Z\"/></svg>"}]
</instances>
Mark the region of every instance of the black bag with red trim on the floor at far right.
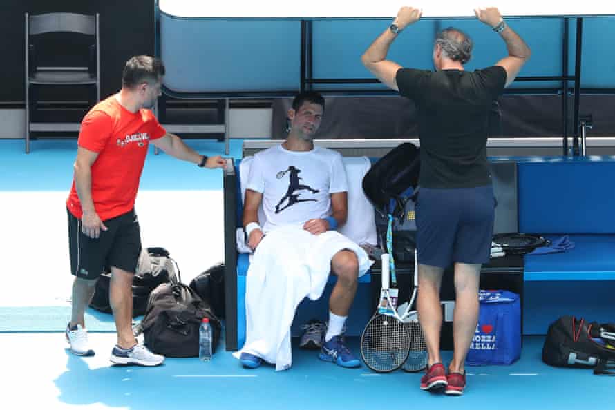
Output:
<instances>
[{"instance_id":1,"label":"black bag with red trim on the floor at far right","mask_svg":"<svg viewBox=\"0 0 615 410\"><path fill-rule=\"evenodd\" d=\"M594 373L606 374L605 364L615 361L615 324L562 316L549 325L542 361L556 367L598 368Z\"/></svg>"}]
</instances>

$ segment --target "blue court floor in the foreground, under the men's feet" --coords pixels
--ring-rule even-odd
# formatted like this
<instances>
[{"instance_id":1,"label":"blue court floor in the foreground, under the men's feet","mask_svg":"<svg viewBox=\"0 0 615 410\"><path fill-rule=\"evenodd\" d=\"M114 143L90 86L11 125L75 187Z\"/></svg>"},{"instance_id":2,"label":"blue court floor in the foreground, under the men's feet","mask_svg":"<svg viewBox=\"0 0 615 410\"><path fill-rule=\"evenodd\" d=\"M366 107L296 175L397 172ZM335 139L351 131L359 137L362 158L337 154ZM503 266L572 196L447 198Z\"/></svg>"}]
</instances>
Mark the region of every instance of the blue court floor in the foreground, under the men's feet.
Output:
<instances>
[{"instance_id":1,"label":"blue court floor in the foreground, under the men's feet","mask_svg":"<svg viewBox=\"0 0 615 410\"><path fill-rule=\"evenodd\" d=\"M5 409L580 409L609 407L613 378L540 362L542 338L526 338L507 367L469 367L461 397L419 389L420 374L342 369L294 346L293 366L240 367L231 353L211 362L167 359L161 367L112 367L113 333L92 333L97 354L68 353L61 333L3 333ZM350 346L358 350L357 340ZM450 355L444 356L445 360ZM7 407L5 407L9 404Z\"/></svg>"}]
</instances>

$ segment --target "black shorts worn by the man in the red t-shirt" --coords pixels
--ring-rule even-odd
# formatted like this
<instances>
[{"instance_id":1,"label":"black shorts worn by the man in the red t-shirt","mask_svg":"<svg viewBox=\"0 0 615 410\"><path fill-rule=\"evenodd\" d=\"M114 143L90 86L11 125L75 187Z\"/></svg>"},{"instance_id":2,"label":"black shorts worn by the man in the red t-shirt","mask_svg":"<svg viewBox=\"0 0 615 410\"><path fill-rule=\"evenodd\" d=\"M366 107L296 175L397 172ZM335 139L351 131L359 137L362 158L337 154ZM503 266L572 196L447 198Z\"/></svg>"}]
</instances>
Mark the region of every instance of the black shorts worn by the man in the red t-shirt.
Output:
<instances>
[{"instance_id":1,"label":"black shorts worn by the man in the red t-shirt","mask_svg":"<svg viewBox=\"0 0 615 410\"><path fill-rule=\"evenodd\" d=\"M141 253L141 230L135 210L103 221L106 231L97 239L82 232L81 219L68 209L70 273L83 279L96 279L111 266L134 273Z\"/></svg>"}]
</instances>

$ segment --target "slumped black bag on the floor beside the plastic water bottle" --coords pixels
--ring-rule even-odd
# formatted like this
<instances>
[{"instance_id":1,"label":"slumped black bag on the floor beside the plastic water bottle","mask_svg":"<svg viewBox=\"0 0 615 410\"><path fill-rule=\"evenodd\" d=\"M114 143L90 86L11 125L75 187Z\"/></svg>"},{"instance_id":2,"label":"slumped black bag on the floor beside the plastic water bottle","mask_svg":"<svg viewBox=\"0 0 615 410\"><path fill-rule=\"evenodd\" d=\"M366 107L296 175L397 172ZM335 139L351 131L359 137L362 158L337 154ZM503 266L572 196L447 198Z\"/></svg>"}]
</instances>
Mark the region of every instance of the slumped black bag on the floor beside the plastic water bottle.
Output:
<instances>
[{"instance_id":1,"label":"slumped black bag on the floor beside the plastic water bottle","mask_svg":"<svg viewBox=\"0 0 615 410\"><path fill-rule=\"evenodd\" d=\"M209 318L214 335L212 351L216 351L222 325L211 306L181 282L164 283L149 295L145 316L133 333L136 336L143 332L144 344L153 353L169 358L195 358L203 318Z\"/></svg>"}]
</instances>

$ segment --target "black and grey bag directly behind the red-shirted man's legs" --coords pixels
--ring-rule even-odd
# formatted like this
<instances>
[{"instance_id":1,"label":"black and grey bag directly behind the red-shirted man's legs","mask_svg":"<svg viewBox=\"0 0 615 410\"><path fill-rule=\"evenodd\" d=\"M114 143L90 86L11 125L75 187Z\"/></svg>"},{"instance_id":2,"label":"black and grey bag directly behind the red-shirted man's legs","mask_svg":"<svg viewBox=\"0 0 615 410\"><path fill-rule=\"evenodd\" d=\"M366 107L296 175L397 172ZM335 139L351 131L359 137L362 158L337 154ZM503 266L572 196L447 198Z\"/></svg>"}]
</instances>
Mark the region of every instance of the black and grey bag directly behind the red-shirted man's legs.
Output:
<instances>
[{"instance_id":1,"label":"black and grey bag directly behind the red-shirted man's legs","mask_svg":"<svg viewBox=\"0 0 615 410\"><path fill-rule=\"evenodd\" d=\"M156 286L167 282L178 282L177 263L165 248L142 249L133 277L133 318L144 315L149 294ZM113 313L109 302L111 272L104 272L96 282L90 306L97 311Z\"/></svg>"}]
</instances>

